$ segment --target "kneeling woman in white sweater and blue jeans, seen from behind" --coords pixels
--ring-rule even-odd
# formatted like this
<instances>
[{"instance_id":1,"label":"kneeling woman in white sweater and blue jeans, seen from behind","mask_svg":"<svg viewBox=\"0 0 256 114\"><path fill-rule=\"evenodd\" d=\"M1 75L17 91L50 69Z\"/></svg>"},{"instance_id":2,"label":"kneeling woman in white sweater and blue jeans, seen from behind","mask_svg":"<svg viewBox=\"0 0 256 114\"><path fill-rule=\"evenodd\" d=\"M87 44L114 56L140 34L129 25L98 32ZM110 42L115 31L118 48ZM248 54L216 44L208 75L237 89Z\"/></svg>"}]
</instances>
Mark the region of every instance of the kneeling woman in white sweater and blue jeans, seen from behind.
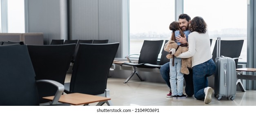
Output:
<instances>
[{"instance_id":1,"label":"kneeling woman in white sweater and blue jeans, seen from behind","mask_svg":"<svg viewBox=\"0 0 256 114\"><path fill-rule=\"evenodd\" d=\"M197 16L191 20L189 30L189 50L178 57L192 57L194 96L198 100L204 99L208 104L211 102L213 89L208 87L207 77L215 73L216 66L212 60L207 24L202 17Z\"/></svg>"}]
</instances>

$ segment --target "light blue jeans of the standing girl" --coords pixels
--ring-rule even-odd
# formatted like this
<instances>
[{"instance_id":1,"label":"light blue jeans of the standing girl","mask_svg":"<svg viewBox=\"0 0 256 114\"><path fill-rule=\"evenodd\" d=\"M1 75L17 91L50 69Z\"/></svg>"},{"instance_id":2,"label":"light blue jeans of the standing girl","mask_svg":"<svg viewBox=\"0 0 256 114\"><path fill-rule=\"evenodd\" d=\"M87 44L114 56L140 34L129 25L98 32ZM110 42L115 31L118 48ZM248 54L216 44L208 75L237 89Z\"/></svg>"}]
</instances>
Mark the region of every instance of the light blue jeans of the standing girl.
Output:
<instances>
[{"instance_id":1,"label":"light blue jeans of the standing girl","mask_svg":"<svg viewBox=\"0 0 256 114\"><path fill-rule=\"evenodd\" d=\"M174 66L172 66L174 61ZM170 59L170 83L172 95L183 95L183 73L180 72L181 58ZM177 80L176 80L177 79ZM176 84L177 83L177 84Z\"/></svg>"}]
</instances>

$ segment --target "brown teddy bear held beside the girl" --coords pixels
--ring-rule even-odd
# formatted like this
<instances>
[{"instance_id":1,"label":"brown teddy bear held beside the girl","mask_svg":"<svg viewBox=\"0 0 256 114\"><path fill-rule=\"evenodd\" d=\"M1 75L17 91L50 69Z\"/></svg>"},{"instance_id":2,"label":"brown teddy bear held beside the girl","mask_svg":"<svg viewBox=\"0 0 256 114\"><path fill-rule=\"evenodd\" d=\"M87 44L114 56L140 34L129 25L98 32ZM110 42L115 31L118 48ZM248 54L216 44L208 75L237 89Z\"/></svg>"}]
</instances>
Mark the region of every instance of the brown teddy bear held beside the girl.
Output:
<instances>
[{"instance_id":1,"label":"brown teddy bear held beside the girl","mask_svg":"<svg viewBox=\"0 0 256 114\"><path fill-rule=\"evenodd\" d=\"M178 44L176 42L170 40L170 41L167 42L164 50L169 52L169 54L167 54L166 57L168 59L171 59L174 56L177 57L178 55L180 55L180 53L186 52L188 50L188 48L187 48L187 43L180 44L178 46ZM173 61L172 65L174 66L174 61ZM188 68L191 68L191 66L192 66L191 57L189 57L189 58L182 58L181 59L180 72L185 74L185 75L188 75L189 74L189 69Z\"/></svg>"}]
</instances>

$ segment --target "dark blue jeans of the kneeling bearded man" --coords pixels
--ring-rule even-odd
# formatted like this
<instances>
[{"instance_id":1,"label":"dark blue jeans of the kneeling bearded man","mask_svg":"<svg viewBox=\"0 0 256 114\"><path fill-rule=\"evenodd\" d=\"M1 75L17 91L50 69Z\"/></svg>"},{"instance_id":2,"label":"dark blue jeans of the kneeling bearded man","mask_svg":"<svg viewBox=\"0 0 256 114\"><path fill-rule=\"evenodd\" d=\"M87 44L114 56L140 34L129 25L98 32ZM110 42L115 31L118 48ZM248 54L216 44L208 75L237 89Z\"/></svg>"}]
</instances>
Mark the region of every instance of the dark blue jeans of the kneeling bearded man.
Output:
<instances>
[{"instance_id":1,"label":"dark blue jeans of the kneeling bearded man","mask_svg":"<svg viewBox=\"0 0 256 114\"><path fill-rule=\"evenodd\" d=\"M163 79L165 80L166 84L168 85L168 87L171 90L171 84L170 84L170 62L164 64L161 68L160 68L160 74L163 77ZM192 69L189 69L189 74L188 75L183 75L185 82L186 82L186 86L185 86L185 93L187 94L187 96L192 96L194 94L194 85L193 85L193 74L192 74Z\"/></svg>"}]
</instances>

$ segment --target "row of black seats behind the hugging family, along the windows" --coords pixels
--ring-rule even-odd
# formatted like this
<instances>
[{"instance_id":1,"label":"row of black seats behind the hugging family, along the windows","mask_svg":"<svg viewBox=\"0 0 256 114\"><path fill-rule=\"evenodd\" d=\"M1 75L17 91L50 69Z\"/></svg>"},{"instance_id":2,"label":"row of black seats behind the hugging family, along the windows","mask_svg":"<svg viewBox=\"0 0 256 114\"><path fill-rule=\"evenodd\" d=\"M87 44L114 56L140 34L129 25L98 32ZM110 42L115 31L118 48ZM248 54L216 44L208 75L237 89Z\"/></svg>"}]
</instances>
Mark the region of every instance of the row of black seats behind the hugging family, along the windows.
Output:
<instances>
[{"instance_id":1,"label":"row of black seats behind the hugging family, along the windows","mask_svg":"<svg viewBox=\"0 0 256 114\"><path fill-rule=\"evenodd\" d=\"M165 41L165 43L168 42L168 40ZM212 39L210 39L210 44L212 42ZM231 58L238 58L240 56L242 47L243 47L244 40L221 40L220 44L220 55L231 57ZM164 44L165 44L164 43ZM127 60L129 62L119 62L118 65L122 66L132 66L132 73L131 75L123 82L127 83L131 77L133 77L135 74L138 76L138 78L143 81L142 77L139 75L137 68L158 68L163 64L166 64L169 62L169 59L167 59L166 55L169 54L165 50L162 49L160 61L158 62L158 55L160 53L161 47L163 45L163 40L145 40L143 42L142 48L140 50L140 54L131 54L126 56ZM215 60L216 58L216 43L214 46L214 50L212 53L212 59ZM132 55L139 55L138 62L134 63L130 60L130 56ZM238 59L235 59L236 66L238 64ZM121 64L120 64L121 63Z\"/></svg>"}]
</instances>

